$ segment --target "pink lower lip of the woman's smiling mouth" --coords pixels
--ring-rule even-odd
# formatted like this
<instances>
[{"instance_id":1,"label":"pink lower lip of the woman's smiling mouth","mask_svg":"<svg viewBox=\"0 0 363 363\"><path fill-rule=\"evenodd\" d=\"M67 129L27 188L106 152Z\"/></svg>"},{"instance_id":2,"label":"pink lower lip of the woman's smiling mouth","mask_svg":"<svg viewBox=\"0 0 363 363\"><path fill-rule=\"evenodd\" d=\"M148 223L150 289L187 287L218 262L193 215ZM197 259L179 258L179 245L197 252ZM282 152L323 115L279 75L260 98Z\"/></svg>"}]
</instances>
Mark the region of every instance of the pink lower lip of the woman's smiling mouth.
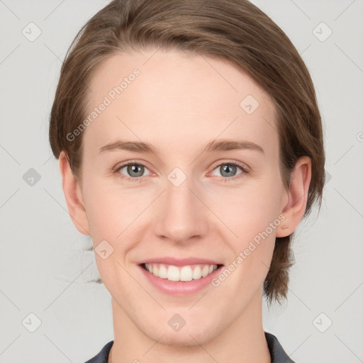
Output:
<instances>
[{"instance_id":1,"label":"pink lower lip of the woman's smiling mouth","mask_svg":"<svg viewBox=\"0 0 363 363\"><path fill-rule=\"evenodd\" d=\"M208 285L211 285L211 280L218 274L220 274L223 266L218 267L218 269L215 269L211 274L208 274L206 277L201 277L201 279L191 281L169 281L168 279L162 279L161 277L157 277L154 274L151 274L140 264L138 265L138 267L141 269L147 281L149 281L160 291L175 296L186 296L196 294L196 292L201 291Z\"/></svg>"}]
</instances>

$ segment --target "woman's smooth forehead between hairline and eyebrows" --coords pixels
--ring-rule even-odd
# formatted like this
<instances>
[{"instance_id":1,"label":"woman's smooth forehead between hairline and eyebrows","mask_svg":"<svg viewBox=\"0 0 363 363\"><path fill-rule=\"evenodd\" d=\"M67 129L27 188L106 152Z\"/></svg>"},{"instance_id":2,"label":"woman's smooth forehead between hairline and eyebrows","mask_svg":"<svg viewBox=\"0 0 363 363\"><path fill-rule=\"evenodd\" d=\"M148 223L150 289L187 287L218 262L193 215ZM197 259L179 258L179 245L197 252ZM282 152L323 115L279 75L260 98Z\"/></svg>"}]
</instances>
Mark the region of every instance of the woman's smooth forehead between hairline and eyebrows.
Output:
<instances>
[{"instance_id":1,"label":"woman's smooth forehead between hairline and eyebrows","mask_svg":"<svg viewBox=\"0 0 363 363\"><path fill-rule=\"evenodd\" d=\"M277 151L272 99L226 60L165 50L118 53L104 60L89 89L84 147L95 154L118 138L176 150L240 138Z\"/></svg>"}]
</instances>

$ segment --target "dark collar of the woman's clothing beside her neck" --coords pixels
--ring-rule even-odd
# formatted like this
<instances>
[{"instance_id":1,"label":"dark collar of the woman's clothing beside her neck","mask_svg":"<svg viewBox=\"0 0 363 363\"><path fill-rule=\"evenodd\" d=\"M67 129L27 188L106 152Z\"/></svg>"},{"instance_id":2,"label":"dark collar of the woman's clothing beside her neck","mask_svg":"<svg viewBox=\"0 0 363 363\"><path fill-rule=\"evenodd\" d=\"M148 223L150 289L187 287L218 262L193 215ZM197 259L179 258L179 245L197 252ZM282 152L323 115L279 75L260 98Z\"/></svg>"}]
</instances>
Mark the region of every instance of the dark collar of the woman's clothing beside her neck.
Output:
<instances>
[{"instance_id":1,"label":"dark collar of the woman's clothing beside her neck","mask_svg":"<svg viewBox=\"0 0 363 363\"><path fill-rule=\"evenodd\" d=\"M289 358L284 349L281 347L279 340L271 333L264 332L264 336L269 346L269 354L271 355L271 363L295 363ZM113 345L113 340L108 342L95 357L87 360L86 363L107 363L108 354Z\"/></svg>"}]
</instances>

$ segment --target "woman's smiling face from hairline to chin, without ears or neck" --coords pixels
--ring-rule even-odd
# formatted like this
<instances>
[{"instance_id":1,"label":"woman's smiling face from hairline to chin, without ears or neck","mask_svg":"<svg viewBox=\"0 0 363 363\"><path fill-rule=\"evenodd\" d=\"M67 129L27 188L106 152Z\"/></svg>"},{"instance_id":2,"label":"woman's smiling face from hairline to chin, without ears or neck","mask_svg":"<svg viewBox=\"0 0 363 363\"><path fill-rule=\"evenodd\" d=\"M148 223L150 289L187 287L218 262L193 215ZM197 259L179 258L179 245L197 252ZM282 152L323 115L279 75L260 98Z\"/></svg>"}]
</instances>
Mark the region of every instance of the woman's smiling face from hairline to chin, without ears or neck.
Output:
<instances>
[{"instance_id":1,"label":"woman's smiling face from hairline to chin, without ears or neck","mask_svg":"<svg viewBox=\"0 0 363 363\"><path fill-rule=\"evenodd\" d=\"M287 201L277 113L225 60L154 53L113 55L91 79L89 114L104 109L83 131L81 199L113 313L153 340L195 345L191 335L210 341L261 308ZM118 141L147 143L151 151L115 147ZM166 257L178 259L166 261L178 273L191 265L181 274L196 279L168 281L140 265L154 259L159 273L162 261L174 279ZM201 261L179 261L189 257ZM202 259L218 269L198 279L196 265L206 271L208 264Z\"/></svg>"}]
</instances>

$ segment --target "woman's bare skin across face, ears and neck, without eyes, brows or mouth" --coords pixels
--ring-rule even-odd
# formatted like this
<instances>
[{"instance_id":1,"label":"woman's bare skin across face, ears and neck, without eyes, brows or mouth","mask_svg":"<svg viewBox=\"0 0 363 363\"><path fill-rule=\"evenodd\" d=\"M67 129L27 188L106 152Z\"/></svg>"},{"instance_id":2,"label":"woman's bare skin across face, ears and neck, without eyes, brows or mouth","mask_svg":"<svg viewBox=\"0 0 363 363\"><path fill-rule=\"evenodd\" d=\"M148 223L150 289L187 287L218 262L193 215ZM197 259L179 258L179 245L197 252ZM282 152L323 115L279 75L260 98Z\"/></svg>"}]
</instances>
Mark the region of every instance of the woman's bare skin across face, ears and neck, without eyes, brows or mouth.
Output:
<instances>
[{"instance_id":1,"label":"woman's bare skin across face, ears and neck, without eyes, brows or mouth","mask_svg":"<svg viewBox=\"0 0 363 363\"><path fill-rule=\"evenodd\" d=\"M113 247L106 259L96 254L112 296L114 342L108 362L169 362L171 357L176 363L212 362L212 357L217 362L271 362L262 325L262 286L275 238L290 235L305 211L311 160L298 160L291 187L284 189L272 99L225 60L154 53L108 57L91 79L90 111L119 80L140 69L140 76L84 130L82 185L64 152L59 160L74 225L91 235L95 249L102 240ZM249 94L259 102L251 114L240 107ZM152 143L156 151L98 154L118 138ZM201 152L206 143L222 138L256 143L264 153ZM112 173L128 160L145 166L140 182L127 167L118 175L134 180ZM241 177L237 167L224 182L222 168L231 161L250 169ZM180 186L167 179L175 167L186 175ZM142 259L160 256L202 257L228 266L281 214L284 222L218 287L172 296L155 289L138 267ZM168 325L175 313L186 321L177 333Z\"/></svg>"}]
</instances>

